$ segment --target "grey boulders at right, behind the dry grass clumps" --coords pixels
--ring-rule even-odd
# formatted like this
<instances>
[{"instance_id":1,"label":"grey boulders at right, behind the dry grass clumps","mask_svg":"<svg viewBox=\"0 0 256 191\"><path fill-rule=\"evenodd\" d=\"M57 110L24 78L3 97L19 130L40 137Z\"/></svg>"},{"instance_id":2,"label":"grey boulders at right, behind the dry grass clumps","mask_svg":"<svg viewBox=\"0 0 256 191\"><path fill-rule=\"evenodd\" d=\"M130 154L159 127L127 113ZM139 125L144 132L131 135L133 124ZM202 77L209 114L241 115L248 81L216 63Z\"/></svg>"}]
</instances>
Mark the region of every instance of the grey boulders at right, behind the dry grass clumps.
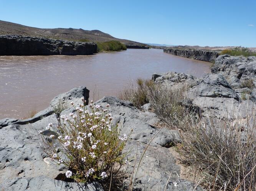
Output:
<instances>
[{"instance_id":1,"label":"grey boulders at right, behind the dry grass clumps","mask_svg":"<svg viewBox=\"0 0 256 191\"><path fill-rule=\"evenodd\" d=\"M229 120L246 118L248 115L254 115L253 111L256 109L255 102L244 100L241 93L233 89L222 74L206 74L197 79L189 74L169 72L153 74L152 79L157 84L170 86L187 84L187 99L182 100L180 104L197 112L201 117ZM254 117L249 123L253 123L253 119Z\"/></svg>"}]
</instances>

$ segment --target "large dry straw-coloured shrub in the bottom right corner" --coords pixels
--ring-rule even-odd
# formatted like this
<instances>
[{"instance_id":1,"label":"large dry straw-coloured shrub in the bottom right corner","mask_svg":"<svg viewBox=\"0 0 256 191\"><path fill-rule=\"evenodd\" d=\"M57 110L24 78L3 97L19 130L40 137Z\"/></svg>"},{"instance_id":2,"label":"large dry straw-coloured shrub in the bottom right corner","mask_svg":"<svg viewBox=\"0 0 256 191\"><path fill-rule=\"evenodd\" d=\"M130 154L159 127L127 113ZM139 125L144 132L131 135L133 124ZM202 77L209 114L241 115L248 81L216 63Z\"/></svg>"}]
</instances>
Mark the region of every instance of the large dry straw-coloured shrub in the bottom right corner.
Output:
<instances>
[{"instance_id":1,"label":"large dry straw-coloured shrub in the bottom right corner","mask_svg":"<svg viewBox=\"0 0 256 191\"><path fill-rule=\"evenodd\" d=\"M179 146L183 162L200 169L209 190L256 189L256 129L248 126L243 119L211 118L185 126Z\"/></svg>"}]
</instances>

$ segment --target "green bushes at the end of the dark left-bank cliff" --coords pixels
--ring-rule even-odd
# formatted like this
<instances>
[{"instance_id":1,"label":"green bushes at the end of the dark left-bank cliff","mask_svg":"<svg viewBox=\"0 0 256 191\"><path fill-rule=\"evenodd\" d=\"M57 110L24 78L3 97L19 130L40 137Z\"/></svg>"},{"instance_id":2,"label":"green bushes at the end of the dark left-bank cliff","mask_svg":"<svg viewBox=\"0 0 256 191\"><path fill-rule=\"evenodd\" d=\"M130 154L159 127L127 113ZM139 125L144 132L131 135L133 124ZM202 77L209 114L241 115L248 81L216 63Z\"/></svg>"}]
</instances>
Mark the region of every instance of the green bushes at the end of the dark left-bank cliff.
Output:
<instances>
[{"instance_id":1,"label":"green bushes at the end of the dark left-bank cliff","mask_svg":"<svg viewBox=\"0 0 256 191\"><path fill-rule=\"evenodd\" d=\"M126 50L126 45L117 40L97 42L97 52Z\"/></svg>"}]
</instances>

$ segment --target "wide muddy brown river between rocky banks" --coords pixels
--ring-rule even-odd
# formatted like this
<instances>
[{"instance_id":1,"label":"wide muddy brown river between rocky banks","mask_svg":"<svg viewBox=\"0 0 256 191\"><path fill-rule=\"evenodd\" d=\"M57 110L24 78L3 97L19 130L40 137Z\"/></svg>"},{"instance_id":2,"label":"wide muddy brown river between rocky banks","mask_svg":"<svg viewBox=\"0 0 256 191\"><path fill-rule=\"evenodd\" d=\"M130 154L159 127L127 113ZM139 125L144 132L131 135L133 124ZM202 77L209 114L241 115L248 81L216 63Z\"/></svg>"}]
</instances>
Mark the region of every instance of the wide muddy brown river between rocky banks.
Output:
<instances>
[{"instance_id":1,"label":"wide muddy brown river between rocky banks","mask_svg":"<svg viewBox=\"0 0 256 191\"><path fill-rule=\"evenodd\" d=\"M22 118L48 107L56 95L86 86L94 100L117 95L130 80L176 71L202 76L211 63L164 53L127 49L90 56L1 56L0 119Z\"/></svg>"}]
</instances>

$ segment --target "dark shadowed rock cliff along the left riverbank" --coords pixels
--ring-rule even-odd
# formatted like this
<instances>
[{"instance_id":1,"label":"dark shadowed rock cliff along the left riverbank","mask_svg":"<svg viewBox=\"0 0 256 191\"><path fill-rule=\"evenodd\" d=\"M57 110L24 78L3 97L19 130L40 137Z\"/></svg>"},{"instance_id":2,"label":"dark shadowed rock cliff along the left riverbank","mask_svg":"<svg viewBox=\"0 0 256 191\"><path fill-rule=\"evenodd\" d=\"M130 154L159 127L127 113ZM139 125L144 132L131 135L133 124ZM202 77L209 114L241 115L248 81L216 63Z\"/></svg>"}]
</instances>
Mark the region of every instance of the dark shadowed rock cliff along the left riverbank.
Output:
<instances>
[{"instance_id":1,"label":"dark shadowed rock cliff along the left riverbank","mask_svg":"<svg viewBox=\"0 0 256 191\"><path fill-rule=\"evenodd\" d=\"M91 55L96 52L95 43L0 35L0 56Z\"/></svg>"}]
</instances>

